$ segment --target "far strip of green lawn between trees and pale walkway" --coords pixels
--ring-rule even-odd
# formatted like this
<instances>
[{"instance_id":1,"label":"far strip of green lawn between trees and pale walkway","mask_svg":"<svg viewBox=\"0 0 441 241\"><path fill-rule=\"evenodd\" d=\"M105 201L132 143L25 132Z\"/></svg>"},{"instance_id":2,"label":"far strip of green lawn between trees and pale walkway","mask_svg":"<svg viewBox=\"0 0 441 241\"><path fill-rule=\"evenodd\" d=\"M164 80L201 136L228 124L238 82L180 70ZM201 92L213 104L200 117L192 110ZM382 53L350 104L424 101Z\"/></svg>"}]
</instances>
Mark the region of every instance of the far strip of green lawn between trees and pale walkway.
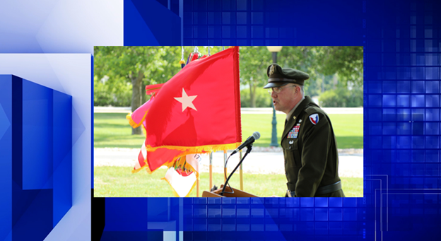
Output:
<instances>
[{"instance_id":1,"label":"far strip of green lawn between trees and pale walkway","mask_svg":"<svg viewBox=\"0 0 441 241\"><path fill-rule=\"evenodd\" d=\"M140 148L144 136L131 135L131 127L124 113L94 114L94 146ZM278 143L281 141L285 114L276 114ZM363 114L329 114L338 148L363 148ZM269 146L271 143L272 114L242 114L242 140L254 131L261 137L254 146Z\"/></svg>"}]
</instances>

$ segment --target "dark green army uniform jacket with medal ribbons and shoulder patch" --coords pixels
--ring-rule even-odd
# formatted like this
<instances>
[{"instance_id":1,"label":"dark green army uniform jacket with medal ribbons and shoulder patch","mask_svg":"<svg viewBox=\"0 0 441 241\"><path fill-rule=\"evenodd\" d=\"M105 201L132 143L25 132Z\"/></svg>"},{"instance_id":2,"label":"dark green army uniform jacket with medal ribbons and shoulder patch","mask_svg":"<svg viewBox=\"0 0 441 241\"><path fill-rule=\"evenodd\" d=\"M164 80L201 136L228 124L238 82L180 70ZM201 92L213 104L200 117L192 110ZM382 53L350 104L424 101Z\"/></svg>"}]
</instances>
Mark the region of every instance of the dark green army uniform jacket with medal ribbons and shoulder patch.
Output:
<instances>
[{"instance_id":1,"label":"dark green army uniform jacket with medal ribbons and shoulder patch","mask_svg":"<svg viewBox=\"0 0 441 241\"><path fill-rule=\"evenodd\" d=\"M317 188L340 181L339 155L331 121L310 97L288 118L281 146L288 189L295 196L344 196L341 189L315 195Z\"/></svg>"}]
</instances>

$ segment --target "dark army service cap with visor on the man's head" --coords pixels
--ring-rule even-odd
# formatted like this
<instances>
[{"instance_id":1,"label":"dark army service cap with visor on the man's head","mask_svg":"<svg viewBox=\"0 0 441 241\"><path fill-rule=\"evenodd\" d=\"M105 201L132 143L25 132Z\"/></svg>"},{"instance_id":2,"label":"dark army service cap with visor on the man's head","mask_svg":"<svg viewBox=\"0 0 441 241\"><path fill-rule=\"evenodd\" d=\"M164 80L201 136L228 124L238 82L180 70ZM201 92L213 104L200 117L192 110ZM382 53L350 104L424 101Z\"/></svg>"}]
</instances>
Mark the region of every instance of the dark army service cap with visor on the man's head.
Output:
<instances>
[{"instance_id":1,"label":"dark army service cap with visor on the man's head","mask_svg":"<svg viewBox=\"0 0 441 241\"><path fill-rule=\"evenodd\" d=\"M288 83L295 83L303 86L305 80L310 78L308 74L297 69L282 68L278 64L271 64L266 69L268 84L264 88L285 86Z\"/></svg>"}]
</instances>

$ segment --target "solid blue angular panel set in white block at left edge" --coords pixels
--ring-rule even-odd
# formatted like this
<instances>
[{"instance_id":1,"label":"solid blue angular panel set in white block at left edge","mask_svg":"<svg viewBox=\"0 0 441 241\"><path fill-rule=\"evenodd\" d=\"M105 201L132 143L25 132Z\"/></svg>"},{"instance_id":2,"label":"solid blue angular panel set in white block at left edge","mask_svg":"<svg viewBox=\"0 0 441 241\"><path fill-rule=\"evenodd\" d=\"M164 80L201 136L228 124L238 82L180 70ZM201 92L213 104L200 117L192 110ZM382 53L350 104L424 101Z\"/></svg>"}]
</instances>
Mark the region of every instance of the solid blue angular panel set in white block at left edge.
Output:
<instances>
[{"instance_id":1,"label":"solid blue angular panel set in white block at left edge","mask_svg":"<svg viewBox=\"0 0 441 241\"><path fill-rule=\"evenodd\" d=\"M0 86L1 127L11 123L0 138L0 237L43 240L72 206L71 96L11 75Z\"/></svg>"}]
</instances>

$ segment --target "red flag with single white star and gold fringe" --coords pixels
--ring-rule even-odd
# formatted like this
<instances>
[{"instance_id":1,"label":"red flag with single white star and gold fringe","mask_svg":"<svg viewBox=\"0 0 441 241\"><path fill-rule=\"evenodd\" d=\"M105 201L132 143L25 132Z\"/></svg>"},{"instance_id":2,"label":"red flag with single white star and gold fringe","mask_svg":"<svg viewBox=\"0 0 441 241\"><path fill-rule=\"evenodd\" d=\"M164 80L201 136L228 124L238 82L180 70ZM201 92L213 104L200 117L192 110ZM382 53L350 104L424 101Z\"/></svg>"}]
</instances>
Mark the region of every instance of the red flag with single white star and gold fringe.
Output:
<instances>
[{"instance_id":1,"label":"red flag with single white star and gold fringe","mask_svg":"<svg viewBox=\"0 0 441 241\"><path fill-rule=\"evenodd\" d=\"M187 154L237 148L242 141L239 47L187 64L156 93L145 122L151 172Z\"/></svg>"}]
</instances>

